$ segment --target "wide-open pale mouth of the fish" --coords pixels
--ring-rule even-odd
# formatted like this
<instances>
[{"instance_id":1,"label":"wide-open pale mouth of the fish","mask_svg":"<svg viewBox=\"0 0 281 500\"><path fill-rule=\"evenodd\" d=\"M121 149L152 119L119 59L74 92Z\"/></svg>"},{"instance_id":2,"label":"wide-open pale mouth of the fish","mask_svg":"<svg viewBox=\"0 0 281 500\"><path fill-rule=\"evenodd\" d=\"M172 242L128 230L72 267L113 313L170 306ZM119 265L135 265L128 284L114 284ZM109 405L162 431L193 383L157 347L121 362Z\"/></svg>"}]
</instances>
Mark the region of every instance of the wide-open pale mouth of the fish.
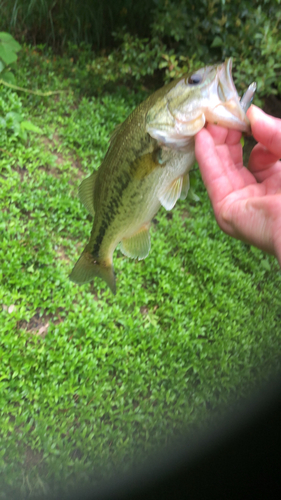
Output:
<instances>
[{"instance_id":1,"label":"wide-open pale mouth of the fish","mask_svg":"<svg viewBox=\"0 0 281 500\"><path fill-rule=\"evenodd\" d=\"M232 120L232 125L241 131L250 133L250 122L246 116L246 111L251 105L256 91L256 83L253 82L247 88L243 97L240 99L238 92L236 90L235 84L232 78L232 59L227 59L221 66L217 69L218 77L218 96L221 101L220 105L220 115L221 123L223 121L228 121L228 118ZM224 108L224 111L222 110ZM225 116L223 116L225 115ZM228 115L228 117L227 117ZM227 123L225 123L227 126Z\"/></svg>"}]
</instances>

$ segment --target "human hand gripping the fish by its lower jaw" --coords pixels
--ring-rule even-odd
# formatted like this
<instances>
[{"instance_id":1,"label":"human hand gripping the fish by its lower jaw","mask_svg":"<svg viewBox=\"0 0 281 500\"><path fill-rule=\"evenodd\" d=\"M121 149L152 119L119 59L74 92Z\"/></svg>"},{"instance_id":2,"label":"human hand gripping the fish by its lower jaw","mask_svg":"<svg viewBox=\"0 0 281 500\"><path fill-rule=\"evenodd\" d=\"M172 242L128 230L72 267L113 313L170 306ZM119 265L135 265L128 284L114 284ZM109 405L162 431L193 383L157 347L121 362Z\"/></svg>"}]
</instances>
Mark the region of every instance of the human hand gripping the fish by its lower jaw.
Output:
<instances>
[{"instance_id":1,"label":"human hand gripping the fish by its lower jaw","mask_svg":"<svg viewBox=\"0 0 281 500\"><path fill-rule=\"evenodd\" d=\"M220 228L281 266L281 120L256 106L247 115L258 141L248 169L235 130L207 125L195 136L195 155Z\"/></svg>"}]
</instances>

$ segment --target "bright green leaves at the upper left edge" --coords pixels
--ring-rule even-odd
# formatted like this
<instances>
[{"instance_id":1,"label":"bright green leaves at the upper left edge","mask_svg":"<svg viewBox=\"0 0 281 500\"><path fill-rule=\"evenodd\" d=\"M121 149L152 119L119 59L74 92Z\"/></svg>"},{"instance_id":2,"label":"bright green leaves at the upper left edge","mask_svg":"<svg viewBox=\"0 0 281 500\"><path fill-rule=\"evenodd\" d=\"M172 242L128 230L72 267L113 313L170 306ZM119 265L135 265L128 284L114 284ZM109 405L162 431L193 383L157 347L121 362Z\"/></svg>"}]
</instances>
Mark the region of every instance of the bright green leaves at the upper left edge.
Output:
<instances>
[{"instance_id":1,"label":"bright green leaves at the upper left edge","mask_svg":"<svg viewBox=\"0 0 281 500\"><path fill-rule=\"evenodd\" d=\"M17 61L21 46L9 33L0 33L0 78L4 82L15 83L11 65Z\"/></svg>"}]
</instances>

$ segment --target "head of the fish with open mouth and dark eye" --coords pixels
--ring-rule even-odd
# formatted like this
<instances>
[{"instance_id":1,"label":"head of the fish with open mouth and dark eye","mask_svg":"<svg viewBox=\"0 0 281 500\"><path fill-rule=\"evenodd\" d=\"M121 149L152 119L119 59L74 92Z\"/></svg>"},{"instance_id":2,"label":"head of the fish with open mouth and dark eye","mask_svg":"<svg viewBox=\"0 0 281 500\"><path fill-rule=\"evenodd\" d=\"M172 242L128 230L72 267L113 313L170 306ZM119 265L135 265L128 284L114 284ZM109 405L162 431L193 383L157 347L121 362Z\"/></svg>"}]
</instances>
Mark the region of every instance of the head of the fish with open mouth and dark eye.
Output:
<instances>
[{"instance_id":1,"label":"head of the fish with open mouth and dark eye","mask_svg":"<svg viewBox=\"0 0 281 500\"><path fill-rule=\"evenodd\" d=\"M246 111L252 83L240 99L232 78L232 60L206 66L161 89L146 114L146 131L162 146L185 151L205 123L251 133Z\"/></svg>"}]
</instances>

